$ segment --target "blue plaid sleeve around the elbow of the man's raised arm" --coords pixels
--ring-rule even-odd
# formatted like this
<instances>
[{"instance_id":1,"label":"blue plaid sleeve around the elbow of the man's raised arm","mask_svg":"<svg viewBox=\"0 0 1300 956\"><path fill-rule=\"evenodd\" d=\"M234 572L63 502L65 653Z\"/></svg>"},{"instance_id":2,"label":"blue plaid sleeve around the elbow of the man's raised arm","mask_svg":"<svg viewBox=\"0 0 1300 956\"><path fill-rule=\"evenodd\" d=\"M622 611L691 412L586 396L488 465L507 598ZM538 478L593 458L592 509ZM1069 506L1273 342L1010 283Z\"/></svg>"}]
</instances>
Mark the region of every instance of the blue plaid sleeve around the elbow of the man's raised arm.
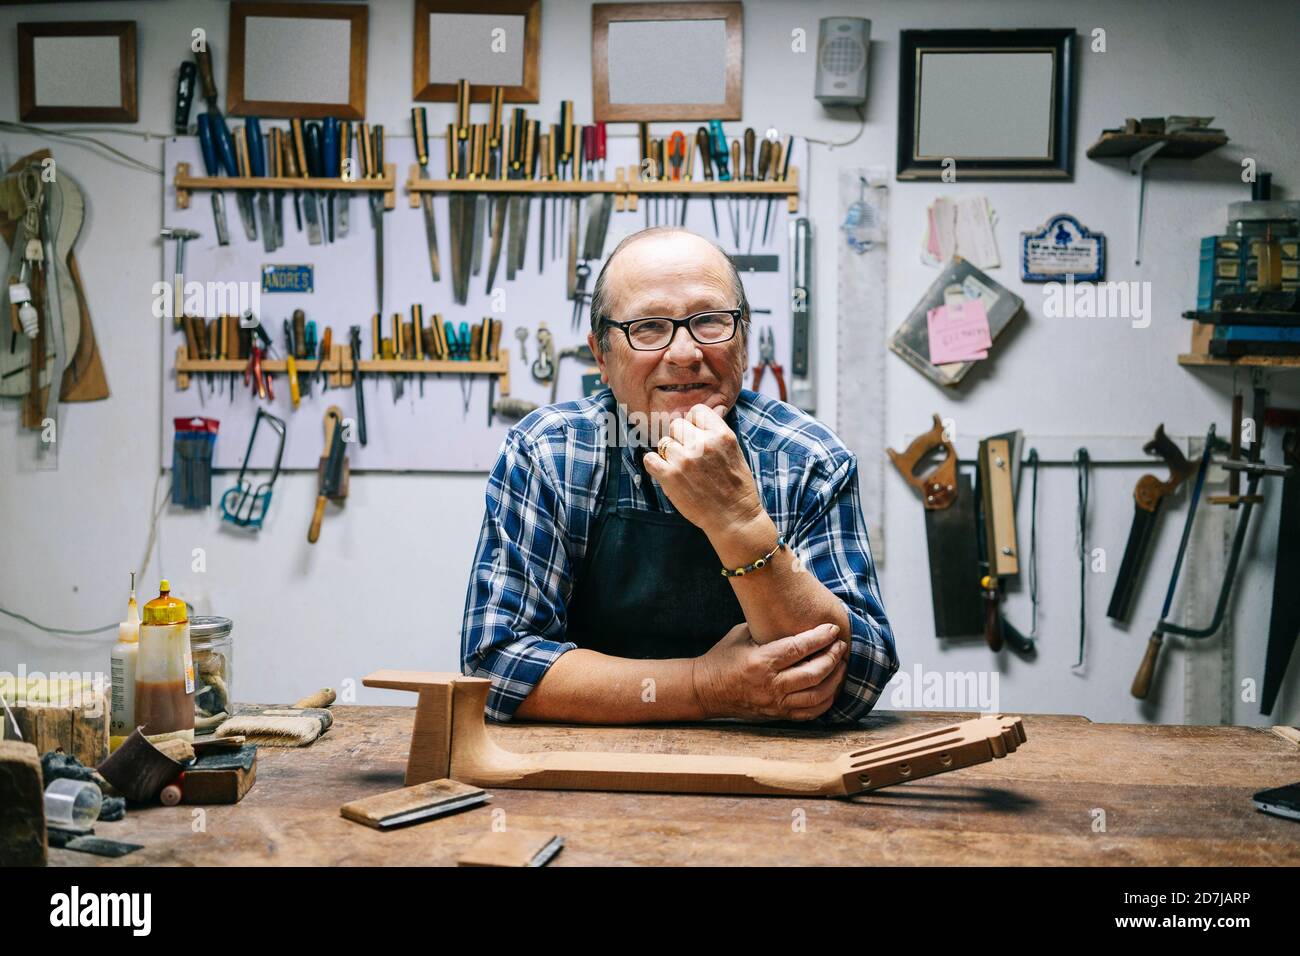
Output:
<instances>
[{"instance_id":1,"label":"blue plaid sleeve around the elbow of the man's raised arm","mask_svg":"<svg viewBox=\"0 0 1300 956\"><path fill-rule=\"evenodd\" d=\"M818 721L854 723L875 706L898 670L898 656L867 542L857 459L845 451L827 468L814 471L819 473L802 492L790 541L805 570L844 602L852 630L844 687Z\"/></svg>"}]
</instances>

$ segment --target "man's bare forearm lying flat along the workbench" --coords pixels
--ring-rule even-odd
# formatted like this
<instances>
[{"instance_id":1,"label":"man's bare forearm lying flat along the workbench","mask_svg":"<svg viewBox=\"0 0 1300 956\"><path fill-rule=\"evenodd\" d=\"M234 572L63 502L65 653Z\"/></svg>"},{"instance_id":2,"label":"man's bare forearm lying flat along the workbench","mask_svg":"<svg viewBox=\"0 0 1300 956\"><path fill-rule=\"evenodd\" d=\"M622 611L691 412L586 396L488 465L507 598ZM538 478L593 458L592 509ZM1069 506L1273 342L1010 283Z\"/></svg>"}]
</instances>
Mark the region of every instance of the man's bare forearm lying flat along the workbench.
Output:
<instances>
[{"instance_id":1,"label":"man's bare forearm lying flat along the workbench","mask_svg":"<svg viewBox=\"0 0 1300 956\"><path fill-rule=\"evenodd\" d=\"M689 658L638 661L577 648L550 666L517 717L571 723L703 721Z\"/></svg>"}]
</instances>

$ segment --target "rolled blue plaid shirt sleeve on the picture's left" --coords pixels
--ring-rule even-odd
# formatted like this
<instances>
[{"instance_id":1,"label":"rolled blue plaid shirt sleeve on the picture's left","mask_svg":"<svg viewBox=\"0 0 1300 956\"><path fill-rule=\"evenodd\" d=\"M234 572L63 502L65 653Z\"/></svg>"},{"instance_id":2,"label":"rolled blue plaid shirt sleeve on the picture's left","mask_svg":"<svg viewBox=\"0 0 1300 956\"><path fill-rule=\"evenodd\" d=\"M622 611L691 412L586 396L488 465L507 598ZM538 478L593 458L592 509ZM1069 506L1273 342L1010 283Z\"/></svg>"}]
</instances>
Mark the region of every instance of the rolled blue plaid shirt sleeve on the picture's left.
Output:
<instances>
[{"instance_id":1,"label":"rolled blue plaid shirt sleeve on the picture's left","mask_svg":"<svg viewBox=\"0 0 1300 956\"><path fill-rule=\"evenodd\" d=\"M488 717L510 721L560 654L572 580L559 483L520 431L488 479L488 507L469 572L462 671L489 678Z\"/></svg>"}]
</instances>

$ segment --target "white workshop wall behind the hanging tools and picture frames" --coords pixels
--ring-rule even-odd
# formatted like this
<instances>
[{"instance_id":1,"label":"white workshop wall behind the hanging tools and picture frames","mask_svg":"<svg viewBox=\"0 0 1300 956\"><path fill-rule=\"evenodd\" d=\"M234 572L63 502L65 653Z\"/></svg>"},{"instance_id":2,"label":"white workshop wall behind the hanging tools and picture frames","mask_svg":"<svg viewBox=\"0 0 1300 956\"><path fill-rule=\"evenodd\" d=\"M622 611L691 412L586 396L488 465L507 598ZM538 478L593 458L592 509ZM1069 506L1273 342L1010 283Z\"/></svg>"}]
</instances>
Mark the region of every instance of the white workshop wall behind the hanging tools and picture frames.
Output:
<instances>
[{"instance_id":1,"label":"white workshop wall behind the hanging tools and picture frames","mask_svg":"<svg viewBox=\"0 0 1300 956\"><path fill-rule=\"evenodd\" d=\"M1247 9L1249 8L1249 9ZM370 5L369 120L406 129L410 101L411 3ZM190 31L208 30L224 88L228 7L196 0L169 4L96 3L0 9L0 117L17 118L14 23L68 18L131 18L139 30L139 130L170 127L176 68L187 56ZM1195 303L1197 239L1221 230L1226 204L1244 196L1239 163L1253 156L1277 181L1300 189L1294 96L1300 68L1292 44L1300 8L1278 0L1249 5L1214 0L1113 3L776 3L751 0L745 18L745 122L828 140L850 137L857 122L835 116L812 99L812 55L790 52L790 31L816 34L822 16L872 20L874 43L867 126L850 150L816 147L811 161L809 215L819 230L816 302L820 414L835 421L835 242L838 226L835 177L841 165L894 161L898 31L906 27L1074 26L1080 39L1106 30L1105 53L1080 43L1075 178L1060 185L956 183L942 189L892 182L889 264L890 326L933 280L916 250L926 204L937 194L984 193L998 215L1004 267L992 274L1024 297L1028 320L1000 347L992 368L970 388L940 393L893 356L885 360L888 434L894 447L923 431L932 411L956 419L962 434L1022 428L1028 444L1112 449L1095 436L1127 436L1134 446L1165 423L1178 436L1201 434L1210 420L1227 429L1231 376L1188 372L1174 356L1186 350L1179 317ZM576 101L590 116L589 5L546 0L542 18L542 90L534 113L558 113L559 100ZM1126 116L1213 114L1232 142L1195 164L1154 168L1148 190L1144 264L1132 263L1135 183L1121 168L1093 163L1083 151L1104 126ZM437 129L450 107L430 109ZM107 135L114 146L151 164L161 161L160 140ZM0 134L8 165L42 139ZM53 143L56 157L87 193L86 226L77 255L95 316L113 397L65 406L60 463L53 472L23 464L16 414L0 410L0 605L44 623L94 627L121 617L126 572L138 567L150 516L160 440L160 394L172 388L160 368L160 330L150 319L150 286L161 269L157 228L162 187L157 177L104 159L103 153ZM1150 328L1127 321L1046 320L1041 293L1018 281L1015 241L1023 229L1067 211L1110 242L1110 280L1152 282L1156 315ZM400 209L398 213L400 215ZM410 212L410 211L407 211ZM234 213L231 207L230 213ZM411 213L415 215L415 213ZM231 222L238 228L237 222ZM359 267L360 268L360 267ZM368 274L368 273L367 273ZM1247 382L1243 380L1242 382ZM1295 385L1275 401L1296 405ZM1079 437L1075 442L1072 436ZM1057 438L1057 441L1045 441ZM1277 442L1274 441L1274 445ZM1270 449L1275 458L1277 449ZM1131 515L1138 471L1093 473L1089 542L1105 546L1112 575ZM220 481L218 481L220 484ZM237 693L244 700L290 700L321 685L358 684L376 667L451 670L458 666L459 626L469 561L482 510L481 475L368 475L352 483L342 514L330 515L321 545L304 541L315 480L285 475L276 506L256 540L226 532L213 514L166 511L159 553L148 580L172 578L176 591L204 613L235 620ZM1082 713L1101 721L1182 719L1182 667L1171 661L1160 700L1139 706L1127 687L1158 614L1178 525L1165 525L1153 555L1153 575L1124 633L1105 619L1113 578L1089 581L1089 665L1071 670L1076 632L1074 475L1045 470L1040 486L1043 653L1034 663L993 663L979 644L941 649L931 633L928 575L919 503L897 476L887 481L881 571L885 604L904 666L924 670L1000 670L1000 704L1006 710ZM1024 506L1022 505L1022 516ZM1179 510L1174 512L1180 519ZM1275 510L1266 509L1252 535L1245 575L1235 602L1236 678L1262 680ZM203 548L205 574L191 571L191 551ZM1022 550L1027 537L1022 533ZM147 588L146 588L147 589ZM1028 622L1024 594L1014 594L1010 617ZM0 667L14 670L104 670L110 635L94 640L51 637L0 618ZM1295 669L1292 669L1295 670ZM1292 674L1292 678L1295 675ZM1238 702L1234 719L1295 722L1300 700L1275 719L1257 705ZM361 689L361 701L403 702L400 695ZM889 706L889 702L884 704Z\"/></svg>"}]
</instances>

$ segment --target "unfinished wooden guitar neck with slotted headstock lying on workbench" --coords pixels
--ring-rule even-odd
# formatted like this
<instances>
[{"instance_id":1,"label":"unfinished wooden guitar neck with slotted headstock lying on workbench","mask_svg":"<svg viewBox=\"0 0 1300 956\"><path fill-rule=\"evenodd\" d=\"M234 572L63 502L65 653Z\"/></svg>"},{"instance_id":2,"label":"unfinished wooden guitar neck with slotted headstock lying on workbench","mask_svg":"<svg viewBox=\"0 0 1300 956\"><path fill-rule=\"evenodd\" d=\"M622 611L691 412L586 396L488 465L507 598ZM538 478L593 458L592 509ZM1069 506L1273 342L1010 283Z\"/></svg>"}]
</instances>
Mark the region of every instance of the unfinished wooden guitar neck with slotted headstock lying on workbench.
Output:
<instances>
[{"instance_id":1,"label":"unfinished wooden guitar neck with slotted headstock lying on workbench","mask_svg":"<svg viewBox=\"0 0 1300 956\"><path fill-rule=\"evenodd\" d=\"M476 787L524 790L850 796L984 763L1024 743L1019 717L987 715L822 761L684 753L515 753L488 735L484 714L490 680L376 671L361 683L420 695L407 760L408 787L450 777Z\"/></svg>"}]
</instances>

